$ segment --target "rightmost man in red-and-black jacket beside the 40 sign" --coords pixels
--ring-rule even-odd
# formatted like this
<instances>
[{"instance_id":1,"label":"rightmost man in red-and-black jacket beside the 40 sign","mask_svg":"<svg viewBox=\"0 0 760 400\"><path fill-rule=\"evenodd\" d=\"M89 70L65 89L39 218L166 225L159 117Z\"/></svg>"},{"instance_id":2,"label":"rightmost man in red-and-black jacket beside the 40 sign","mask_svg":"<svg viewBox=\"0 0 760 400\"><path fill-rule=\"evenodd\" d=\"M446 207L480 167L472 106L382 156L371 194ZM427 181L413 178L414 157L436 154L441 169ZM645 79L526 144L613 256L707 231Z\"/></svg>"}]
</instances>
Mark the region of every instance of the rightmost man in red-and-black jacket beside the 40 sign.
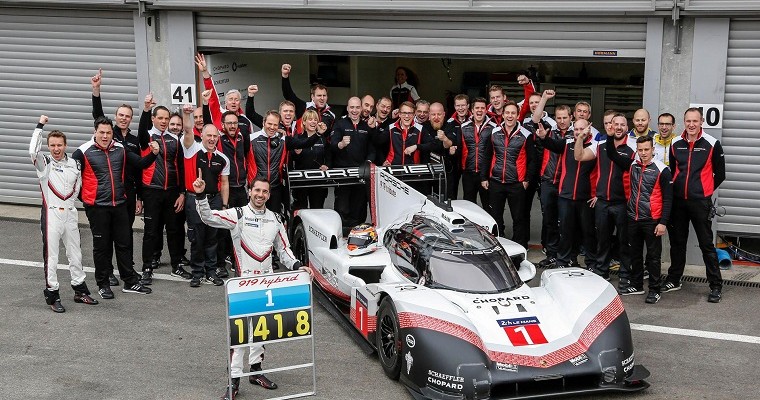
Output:
<instances>
[{"instance_id":1,"label":"rightmost man in red-and-black jacket beside the 40 sign","mask_svg":"<svg viewBox=\"0 0 760 400\"><path fill-rule=\"evenodd\" d=\"M726 160L720 141L702 130L703 121L699 108L686 110L683 118L685 130L670 145L670 167L673 170L673 215L668 225L671 264L662 291L681 289L691 221L710 283L707 301L718 303L722 296L723 278L713 245L710 198L726 179Z\"/></svg>"}]
</instances>

